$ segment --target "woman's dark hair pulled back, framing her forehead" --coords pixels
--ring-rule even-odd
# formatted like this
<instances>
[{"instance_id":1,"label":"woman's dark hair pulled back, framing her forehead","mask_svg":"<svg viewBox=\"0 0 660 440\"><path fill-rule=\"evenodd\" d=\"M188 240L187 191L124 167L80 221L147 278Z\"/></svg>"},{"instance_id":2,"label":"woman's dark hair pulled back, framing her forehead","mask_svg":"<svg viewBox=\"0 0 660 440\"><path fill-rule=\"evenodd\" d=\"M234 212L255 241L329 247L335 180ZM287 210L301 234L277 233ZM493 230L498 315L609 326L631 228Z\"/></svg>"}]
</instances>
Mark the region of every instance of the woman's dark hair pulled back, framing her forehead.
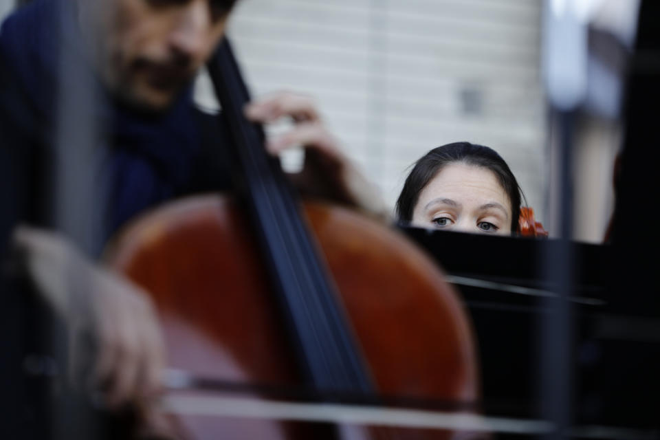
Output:
<instances>
[{"instance_id":1,"label":"woman's dark hair pulled back, framing her forehead","mask_svg":"<svg viewBox=\"0 0 660 440\"><path fill-rule=\"evenodd\" d=\"M487 146L470 144L470 142L454 142L433 148L423 155L410 171L406 178L404 188L397 200L397 217L401 223L407 224L412 220L412 211L415 210L419 193L444 168L453 162L480 166L491 170L497 177L500 185L507 193L511 202L511 232L518 232L518 217L520 217L520 203L522 190L514 173L511 173L507 162Z\"/></svg>"}]
</instances>

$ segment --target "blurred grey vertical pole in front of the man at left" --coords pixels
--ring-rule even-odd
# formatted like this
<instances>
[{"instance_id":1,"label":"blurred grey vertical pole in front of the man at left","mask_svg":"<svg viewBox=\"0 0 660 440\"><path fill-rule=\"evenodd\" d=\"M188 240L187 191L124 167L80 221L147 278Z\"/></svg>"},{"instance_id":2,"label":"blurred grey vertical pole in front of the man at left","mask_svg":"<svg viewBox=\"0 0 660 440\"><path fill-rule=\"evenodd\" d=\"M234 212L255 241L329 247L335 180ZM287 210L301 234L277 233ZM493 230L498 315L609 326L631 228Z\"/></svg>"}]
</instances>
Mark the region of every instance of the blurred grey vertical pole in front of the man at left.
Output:
<instances>
[{"instance_id":1,"label":"blurred grey vertical pole in front of the man at left","mask_svg":"<svg viewBox=\"0 0 660 440\"><path fill-rule=\"evenodd\" d=\"M98 91L83 58L78 16L73 2L60 1L58 8L58 102L54 105L55 148L52 162L52 225L87 256L100 249L102 191L98 179ZM68 271L77 276L74 267ZM84 282L84 281L83 281ZM73 285L74 281L69 280ZM94 294L94 292L87 292ZM83 393L69 384L67 326L56 325L51 338L57 364L61 366L58 388L52 396L52 438L100 439L96 412Z\"/></svg>"}]
</instances>

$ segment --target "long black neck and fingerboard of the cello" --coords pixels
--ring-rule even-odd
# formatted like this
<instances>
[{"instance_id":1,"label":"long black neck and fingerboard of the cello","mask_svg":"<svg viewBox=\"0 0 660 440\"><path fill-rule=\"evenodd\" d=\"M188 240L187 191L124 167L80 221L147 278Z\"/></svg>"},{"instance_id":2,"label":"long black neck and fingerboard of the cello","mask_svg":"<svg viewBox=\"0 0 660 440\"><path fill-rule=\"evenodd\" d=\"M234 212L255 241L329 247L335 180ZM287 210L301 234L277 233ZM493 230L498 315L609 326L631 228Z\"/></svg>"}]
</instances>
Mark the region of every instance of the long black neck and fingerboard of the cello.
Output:
<instances>
[{"instance_id":1,"label":"long black neck and fingerboard of the cello","mask_svg":"<svg viewBox=\"0 0 660 440\"><path fill-rule=\"evenodd\" d=\"M369 375L296 194L278 159L266 153L263 128L243 115L250 96L226 38L208 71L230 132L234 184L252 222L300 369L318 391L369 393Z\"/></svg>"}]
</instances>

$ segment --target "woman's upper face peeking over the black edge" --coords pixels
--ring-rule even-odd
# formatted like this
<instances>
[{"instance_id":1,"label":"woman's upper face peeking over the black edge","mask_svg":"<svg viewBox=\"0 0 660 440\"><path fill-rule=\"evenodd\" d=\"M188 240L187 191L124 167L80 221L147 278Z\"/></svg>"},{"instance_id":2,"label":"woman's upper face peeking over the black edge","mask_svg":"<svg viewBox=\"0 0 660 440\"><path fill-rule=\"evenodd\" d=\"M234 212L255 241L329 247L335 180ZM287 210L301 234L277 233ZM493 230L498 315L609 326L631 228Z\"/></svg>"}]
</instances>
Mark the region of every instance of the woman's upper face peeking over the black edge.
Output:
<instances>
[{"instance_id":1,"label":"woman's upper face peeking over the black edge","mask_svg":"<svg viewBox=\"0 0 660 440\"><path fill-rule=\"evenodd\" d=\"M419 193L412 225L481 234L511 234L511 202L487 168L445 165Z\"/></svg>"}]
</instances>

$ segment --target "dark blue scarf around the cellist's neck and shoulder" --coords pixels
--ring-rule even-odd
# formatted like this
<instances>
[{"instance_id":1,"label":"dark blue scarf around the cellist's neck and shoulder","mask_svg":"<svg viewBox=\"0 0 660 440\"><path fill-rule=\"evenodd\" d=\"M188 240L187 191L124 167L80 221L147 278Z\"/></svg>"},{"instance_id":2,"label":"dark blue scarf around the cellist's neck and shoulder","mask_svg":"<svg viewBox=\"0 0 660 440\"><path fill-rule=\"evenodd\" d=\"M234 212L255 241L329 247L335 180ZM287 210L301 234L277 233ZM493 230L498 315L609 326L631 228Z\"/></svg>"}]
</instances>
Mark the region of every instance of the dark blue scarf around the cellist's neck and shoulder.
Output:
<instances>
[{"instance_id":1,"label":"dark blue scarf around the cellist's neck and shoulder","mask_svg":"<svg viewBox=\"0 0 660 440\"><path fill-rule=\"evenodd\" d=\"M29 102L31 120L26 130L54 132L60 50L80 54L80 30L69 0L34 0L15 12L0 30L0 63L16 78L16 87ZM87 69L89 75L91 69ZM186 190L192 162L199 151L199 133L192 107L191 89L163 114L144 115L122 107L93 82L101 96L93 117L103 127L98 147L103 151L100 179L107 186L106 234L149 206ZM42 140L54 148L53 137ZM102 183L99 183L102 184Z\"/></svg>"}]
</instances>

